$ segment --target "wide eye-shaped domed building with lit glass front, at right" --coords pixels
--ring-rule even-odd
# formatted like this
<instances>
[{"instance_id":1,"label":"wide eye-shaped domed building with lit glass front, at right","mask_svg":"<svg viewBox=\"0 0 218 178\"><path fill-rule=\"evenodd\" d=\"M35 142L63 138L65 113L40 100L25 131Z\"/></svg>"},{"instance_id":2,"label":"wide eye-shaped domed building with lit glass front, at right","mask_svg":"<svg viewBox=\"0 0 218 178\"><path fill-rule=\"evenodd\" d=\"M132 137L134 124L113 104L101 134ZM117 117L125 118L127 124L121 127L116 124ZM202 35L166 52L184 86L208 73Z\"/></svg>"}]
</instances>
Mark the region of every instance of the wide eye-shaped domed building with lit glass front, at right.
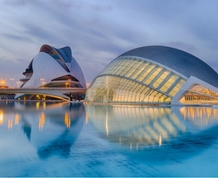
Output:
<instances>
[{"instance_id":1,"label":"wide eye-shaped domed building with lit glass front, at right","mask_svg":"<svg viewBox=\"0 0 218 178\"><path fill-rule=\"evenodd\" d=\"M218 74L199 58L145 46L114 59L93 80L86 103L218 104Z\"/></svg>"}]
</instances>

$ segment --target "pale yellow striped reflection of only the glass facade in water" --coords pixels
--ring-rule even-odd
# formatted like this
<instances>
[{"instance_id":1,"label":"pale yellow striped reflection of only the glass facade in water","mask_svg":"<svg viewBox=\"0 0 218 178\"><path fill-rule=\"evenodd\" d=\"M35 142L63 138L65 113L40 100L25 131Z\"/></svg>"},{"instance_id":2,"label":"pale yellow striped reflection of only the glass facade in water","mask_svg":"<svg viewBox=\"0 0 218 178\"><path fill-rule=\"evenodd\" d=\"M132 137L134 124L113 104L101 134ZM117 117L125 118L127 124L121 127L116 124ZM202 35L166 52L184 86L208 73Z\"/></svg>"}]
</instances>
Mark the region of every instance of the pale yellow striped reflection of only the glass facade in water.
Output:
<instances>
[{"instance_id":1,"label":"pale yellow striped reflection of only the glass facade in water","mask_svg":"<svg viewBox=\"0 0 218 178\"><path fill-rule=\"evenodd\" d=\"M130 149L162 145L186 131L171 108L87 106L86 110L102 137Z\"/></svg>"}]
</instances>

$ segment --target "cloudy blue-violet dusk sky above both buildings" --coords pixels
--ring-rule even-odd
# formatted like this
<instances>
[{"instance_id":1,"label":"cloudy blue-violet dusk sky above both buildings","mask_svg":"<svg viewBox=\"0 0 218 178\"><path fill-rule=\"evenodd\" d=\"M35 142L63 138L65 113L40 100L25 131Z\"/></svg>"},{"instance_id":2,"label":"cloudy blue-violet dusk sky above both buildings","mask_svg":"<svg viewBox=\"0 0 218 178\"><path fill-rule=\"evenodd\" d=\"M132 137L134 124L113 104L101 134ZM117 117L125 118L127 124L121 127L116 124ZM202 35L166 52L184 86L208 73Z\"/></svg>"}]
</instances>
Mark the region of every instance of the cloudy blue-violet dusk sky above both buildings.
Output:
<instances>
[{"instance_id":1,"label":"cloudy blue-violet dusk sky above both buildings","mask_svg":"<svg viewBox=\"0 0 218 178\"><path fill-rule=\"evenodd\" d=\"M218 71L217 9L217 0L0 0L0 80L16 85L43 44L69 46L87 83L120 54L149 45Z\"/></svg>"}]
</instances>

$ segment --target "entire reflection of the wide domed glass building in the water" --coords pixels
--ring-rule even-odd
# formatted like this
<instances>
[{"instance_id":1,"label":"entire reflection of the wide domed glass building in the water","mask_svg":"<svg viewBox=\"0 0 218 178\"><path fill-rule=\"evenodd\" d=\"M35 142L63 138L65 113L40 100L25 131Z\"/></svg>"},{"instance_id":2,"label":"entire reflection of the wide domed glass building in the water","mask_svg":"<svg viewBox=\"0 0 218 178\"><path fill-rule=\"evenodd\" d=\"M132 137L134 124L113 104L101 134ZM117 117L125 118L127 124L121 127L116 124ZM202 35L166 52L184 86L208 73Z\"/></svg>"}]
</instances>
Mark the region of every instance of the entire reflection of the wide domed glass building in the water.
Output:
<instances>
[{"instance_id":1,"label":"entire reflection of the wide domed glass building in the water","mask_svg":"<svg viewBox=\"0 0 218 178\"><path fill-rule=\"evenodd\" d=\"M86 110L102 138L130 150L185 152L193 145L211 145L218 135L218 110L212 107L86 106Z\"/></svg>"}]
</instances>

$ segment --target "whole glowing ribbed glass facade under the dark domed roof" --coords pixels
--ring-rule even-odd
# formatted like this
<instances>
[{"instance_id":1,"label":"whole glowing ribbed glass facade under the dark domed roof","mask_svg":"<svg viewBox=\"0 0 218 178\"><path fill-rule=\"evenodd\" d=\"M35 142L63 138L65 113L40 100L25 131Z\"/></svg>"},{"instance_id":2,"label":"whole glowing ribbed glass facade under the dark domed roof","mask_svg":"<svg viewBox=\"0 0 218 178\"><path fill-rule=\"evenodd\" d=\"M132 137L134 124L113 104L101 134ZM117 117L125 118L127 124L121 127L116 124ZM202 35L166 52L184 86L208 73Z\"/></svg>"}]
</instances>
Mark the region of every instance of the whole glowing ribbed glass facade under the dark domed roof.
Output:
<instances>
[{"instance_id":1,"label":"whole glowing ribbed glass facade under the dark domed roof","mask_svg":"<svg viewBox=\"0 0 218 178\"><path fill-rule=\"evenodd\" d=\"M136 57L118 57L93 81L86 102L171 103L186 79Z\"/></svg>"}]
</instances>

